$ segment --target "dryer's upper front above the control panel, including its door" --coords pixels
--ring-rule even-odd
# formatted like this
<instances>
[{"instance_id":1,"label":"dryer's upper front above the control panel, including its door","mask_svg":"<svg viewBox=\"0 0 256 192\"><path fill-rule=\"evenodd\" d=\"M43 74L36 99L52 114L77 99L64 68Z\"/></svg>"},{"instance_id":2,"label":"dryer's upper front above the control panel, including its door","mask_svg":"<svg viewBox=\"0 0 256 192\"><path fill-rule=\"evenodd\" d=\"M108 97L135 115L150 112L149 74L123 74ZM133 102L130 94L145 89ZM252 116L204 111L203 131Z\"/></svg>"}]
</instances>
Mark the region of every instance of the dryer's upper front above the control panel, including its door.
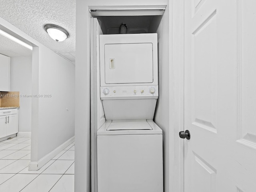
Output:
<instances>
[{"instance_id":1,"label":"dryer's upper front above the control panel, including its door","mask_svg":"<svg viewBox=\"0 0 256 192\"><path fill-rule=\"evenodd\" d=\"M157 34L100 35L100 86L158 85Z\"/></svg>"}]
</instances>

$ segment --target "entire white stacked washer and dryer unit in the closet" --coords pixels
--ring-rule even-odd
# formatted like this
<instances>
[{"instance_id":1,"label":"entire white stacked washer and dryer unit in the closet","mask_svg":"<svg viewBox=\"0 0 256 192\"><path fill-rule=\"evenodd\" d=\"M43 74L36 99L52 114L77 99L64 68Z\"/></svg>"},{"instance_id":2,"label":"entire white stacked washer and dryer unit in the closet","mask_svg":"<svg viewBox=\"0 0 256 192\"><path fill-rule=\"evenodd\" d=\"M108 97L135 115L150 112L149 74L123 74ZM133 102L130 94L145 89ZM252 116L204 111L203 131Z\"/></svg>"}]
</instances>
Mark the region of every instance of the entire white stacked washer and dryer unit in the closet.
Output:
<instances>
[{"instance_id":1,"label":"entire white stacked washer and dryer unit in the closet","mask_svg":"<svg viewBox=\"0 0 256 192\"><path fill-rule=\"evenodd\" d=\"M157 34L100 35L98 192L163 192Z\"/></svg>"}]
</instances>

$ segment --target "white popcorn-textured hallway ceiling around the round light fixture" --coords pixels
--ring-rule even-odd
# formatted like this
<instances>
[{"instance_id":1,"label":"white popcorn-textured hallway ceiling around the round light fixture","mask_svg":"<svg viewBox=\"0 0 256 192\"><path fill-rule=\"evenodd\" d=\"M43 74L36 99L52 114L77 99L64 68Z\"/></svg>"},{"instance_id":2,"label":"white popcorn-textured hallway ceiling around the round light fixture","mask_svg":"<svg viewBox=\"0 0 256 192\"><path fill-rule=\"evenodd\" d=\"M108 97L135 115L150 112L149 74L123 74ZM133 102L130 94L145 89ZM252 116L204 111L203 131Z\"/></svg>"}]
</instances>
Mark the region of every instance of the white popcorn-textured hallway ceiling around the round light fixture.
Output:
<instances>
[{"instance_id":1,"label":"white popcorn-textured hallway ceiling around the round light fixture","mask_svg":"<svg viewBox=\"0 0 256 192\"><path fill-rule=\"evenodd\" d=\"M76 0L0 0L0 17L53 51L75 52ZM65 28L69 38L54 41L44 31L45 24Z\"/></svg>"}]
</instances>

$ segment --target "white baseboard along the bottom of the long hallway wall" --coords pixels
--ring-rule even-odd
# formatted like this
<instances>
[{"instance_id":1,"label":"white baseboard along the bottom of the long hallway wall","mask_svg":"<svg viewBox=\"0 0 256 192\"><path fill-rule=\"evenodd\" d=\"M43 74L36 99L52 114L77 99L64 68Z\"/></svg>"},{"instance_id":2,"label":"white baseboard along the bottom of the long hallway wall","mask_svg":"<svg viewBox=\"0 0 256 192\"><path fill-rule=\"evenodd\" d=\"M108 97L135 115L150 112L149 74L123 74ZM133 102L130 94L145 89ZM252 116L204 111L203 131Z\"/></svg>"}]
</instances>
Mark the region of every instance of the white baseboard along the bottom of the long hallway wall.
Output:
<instances>
[{"instance_id":1,"label":"white baseboard along the bottom of the long hallway wall","mask_svg":"<svg viewBox=\"0 0 256 192\"><path fill-rule=\"evenodd\" d=\"M75 141L75 136L58 146L56 149L54 149L52 152L48 153L46 156L41 158L39 161L36 162L29 162L28 164L28 170L30 171L37 171L42 166L44 166L48 161L50 161L52 158L54 158L57 154L59 154L62 150L64 150L67 146L72 144L72 142Z\"/></svg>"}]
</instances>

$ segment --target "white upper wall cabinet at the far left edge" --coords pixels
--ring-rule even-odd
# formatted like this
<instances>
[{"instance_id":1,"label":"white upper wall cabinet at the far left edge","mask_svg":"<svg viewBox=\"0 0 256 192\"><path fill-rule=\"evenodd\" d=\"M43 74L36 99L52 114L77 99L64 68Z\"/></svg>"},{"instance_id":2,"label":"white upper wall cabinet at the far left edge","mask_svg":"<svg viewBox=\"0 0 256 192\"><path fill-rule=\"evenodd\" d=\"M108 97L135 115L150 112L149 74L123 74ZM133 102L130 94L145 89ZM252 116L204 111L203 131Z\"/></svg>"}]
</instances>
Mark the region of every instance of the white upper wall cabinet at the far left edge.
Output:
<instances>
[{"instance_id":1,"label":"white upper wall cabinet at the far left edge","mask_svg":"<svg viewBox=\"0 0 256 192\"><path fill-rule=\"evenodd\" d=\"M0 54L0 91L10 91L10 57Z\"/></svg>"}]
</instances>

